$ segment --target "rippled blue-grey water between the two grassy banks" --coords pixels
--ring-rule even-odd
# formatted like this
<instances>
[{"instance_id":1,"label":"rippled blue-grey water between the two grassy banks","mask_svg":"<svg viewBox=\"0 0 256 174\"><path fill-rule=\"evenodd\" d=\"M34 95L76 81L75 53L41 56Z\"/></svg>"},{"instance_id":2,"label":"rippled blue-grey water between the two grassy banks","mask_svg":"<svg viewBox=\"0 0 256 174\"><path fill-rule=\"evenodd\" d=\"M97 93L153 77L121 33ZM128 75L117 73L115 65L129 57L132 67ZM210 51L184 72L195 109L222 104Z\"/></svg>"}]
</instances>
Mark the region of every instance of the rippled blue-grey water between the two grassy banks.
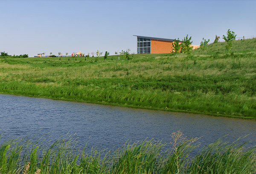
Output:
<instances>
[{"instance_id":1,"label":"rippled blue-grey water between the two grassy banks","mask_svg":"<svg viewBox=\"0 0 256 174\"><path fill-rule=\"evenodd\" d=\"M170 134L182 131L188 138L201 137L201 147L229 134L225 140L232 142L240 136L244 141L254 140L256 121L179 112L131 109L99 104L57 101L0 94L0 138L46 135L56 140L68 132L76 133L80 147L116 149L125 141L145 138L170 141ZM29 136L30 136L29 135Z\"/></svg>"}]
</instances>

